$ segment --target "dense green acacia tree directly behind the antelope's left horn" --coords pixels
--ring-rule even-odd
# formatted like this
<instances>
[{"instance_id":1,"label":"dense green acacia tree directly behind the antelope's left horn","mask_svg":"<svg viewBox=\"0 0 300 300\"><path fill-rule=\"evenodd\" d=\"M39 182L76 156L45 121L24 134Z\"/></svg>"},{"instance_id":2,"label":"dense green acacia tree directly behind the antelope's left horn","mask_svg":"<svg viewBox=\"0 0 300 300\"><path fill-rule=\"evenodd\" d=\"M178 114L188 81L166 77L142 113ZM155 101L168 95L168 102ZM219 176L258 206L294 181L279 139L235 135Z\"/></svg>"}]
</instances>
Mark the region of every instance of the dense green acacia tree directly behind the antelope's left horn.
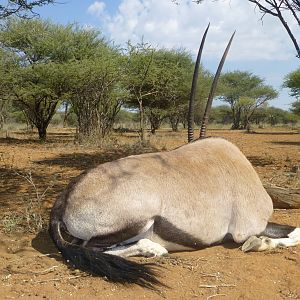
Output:
<instances>
[{"instance_id":1,"label":"dense green acacia tree directly behind the antelope's left horn","mask_svg":"<svg viewBox=\"0 0 300 300\"><path fill-rule=\"evenodd\" d=\"M139 58L139 63L142 64L142 57ZM145 57L143 59L147 62ZM184 50L156 49L151 53L151 64L141 92L144 93L142 97L144 114L150 122L153 134L164 119L169 120L173 131L177 131L179 122L185 123L193 65L191 55ZM197 116L201 114L200 108L208 95L209 84L203 81L210 75L201 72L200 77L196 97ZM141 81L138 80L135 83L140 84ZM131 100L130 103L134 107L139 107L137 101Z\"/></svg>"}]
</instances>

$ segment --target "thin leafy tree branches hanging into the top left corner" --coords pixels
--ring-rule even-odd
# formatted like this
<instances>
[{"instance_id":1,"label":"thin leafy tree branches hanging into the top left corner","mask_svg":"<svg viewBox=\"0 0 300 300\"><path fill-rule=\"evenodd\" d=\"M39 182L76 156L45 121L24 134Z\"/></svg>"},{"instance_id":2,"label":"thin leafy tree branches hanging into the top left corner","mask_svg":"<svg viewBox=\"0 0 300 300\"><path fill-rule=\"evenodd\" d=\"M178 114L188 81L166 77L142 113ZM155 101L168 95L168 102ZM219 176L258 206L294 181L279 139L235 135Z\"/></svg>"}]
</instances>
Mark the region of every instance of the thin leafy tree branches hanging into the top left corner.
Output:
<instances>
[{"instance_id":1,"label":"thin leafy tree branches hanging into the top left corner","mask_svg":"<svg viewBox=\"0 0 300 300\"><path fill-rule=\"evenodd\" d=\"M20 18L30 18L36 16L35 8L54 3L54 0L8 0L0 4L0 19L9 16L17 16Z\"/></svg>"}]
</instances>

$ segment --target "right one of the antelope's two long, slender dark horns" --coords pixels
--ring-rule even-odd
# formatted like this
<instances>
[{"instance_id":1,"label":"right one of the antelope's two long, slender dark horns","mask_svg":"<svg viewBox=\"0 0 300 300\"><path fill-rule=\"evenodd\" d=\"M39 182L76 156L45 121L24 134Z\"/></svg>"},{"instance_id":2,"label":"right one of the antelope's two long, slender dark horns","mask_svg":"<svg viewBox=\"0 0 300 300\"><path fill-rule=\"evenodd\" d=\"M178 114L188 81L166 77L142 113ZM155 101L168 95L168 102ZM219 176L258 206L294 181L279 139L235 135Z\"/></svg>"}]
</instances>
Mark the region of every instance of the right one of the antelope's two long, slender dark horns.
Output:
<instances>
[{"instance_id":1,"label":"right one of the antelope's two long, slender dark horns","mask_svg":"<svg viewBox=\"0 0 300 300\"><path fill-rule=\"evenodd\" d=\"M211 88L210 88L209 96L208 96L206 107L205 107L205 112L204 112L203 119L202 119L201 129L200 129L200 139L204 139L205 138L206 125L208 123L208 118L209 118L209 113L210 113L210 110L211 110L212 101L213 101L214 94L215 94L215 91L216 91L216 88L217 88L217 85L218 85L218 80L220 78L220 74L221 74L223 65L224 65L224 62L226 60L226 56L227 56L227 53L229 51L229 48L230 48L230 45L231 45L231 42L233 40L234 35L235 35L235 31L232 34L232 36L231 36L231 38L230 38L230 40L228 42L228 45L227 45L227 47L226 47L226 49L225 49L225 51L223 53L222 59L221 59L221 61L219 63L217 72L215 74L213 83L212 83Z\"/></svg>"}]
</instances>

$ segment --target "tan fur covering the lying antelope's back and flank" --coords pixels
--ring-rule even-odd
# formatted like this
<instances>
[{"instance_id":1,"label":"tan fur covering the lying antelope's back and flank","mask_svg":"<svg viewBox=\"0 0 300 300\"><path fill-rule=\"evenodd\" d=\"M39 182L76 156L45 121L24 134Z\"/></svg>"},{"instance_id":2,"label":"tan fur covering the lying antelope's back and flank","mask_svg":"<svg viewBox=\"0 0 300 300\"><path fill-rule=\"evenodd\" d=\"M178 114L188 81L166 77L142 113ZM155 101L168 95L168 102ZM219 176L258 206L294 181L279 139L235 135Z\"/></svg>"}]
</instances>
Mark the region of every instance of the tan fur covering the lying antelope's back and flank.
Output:
<instances>
[{"instance_id":1,"label":"tan fur covering the lying antelope's back and flank","mask_svg":"<svg viewBox=\"0 0 300 300\"><path fill-rule=\"evenodd\" d=\"M261 233L273 209L250 162L221 138L99 165L68 187L58 208L67 230L83 240L160 216L203 245L227 233L236 242Z\"/></svg>"}]
</instances>

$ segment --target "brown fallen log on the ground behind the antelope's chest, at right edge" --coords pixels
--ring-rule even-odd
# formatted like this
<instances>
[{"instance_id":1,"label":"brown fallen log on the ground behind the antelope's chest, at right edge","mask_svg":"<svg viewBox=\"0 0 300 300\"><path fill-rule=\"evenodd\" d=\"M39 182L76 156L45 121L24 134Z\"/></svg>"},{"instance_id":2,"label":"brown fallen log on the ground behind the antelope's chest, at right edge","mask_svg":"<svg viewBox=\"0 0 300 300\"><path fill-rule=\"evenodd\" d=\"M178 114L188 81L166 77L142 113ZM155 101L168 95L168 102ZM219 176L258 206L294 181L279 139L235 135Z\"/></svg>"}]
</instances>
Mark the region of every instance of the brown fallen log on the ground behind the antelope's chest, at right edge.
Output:
<instances>
[{"instance_id":1,"label":"brown fallen log on the ground behind the antelope's chest, at right edge","mask_svg":"<svg viewBox=\"0 0 300 300\"><path fill-rule=\"evenodd\" d=\"M287 189L264 184L273 201L274 208L300 208L300 189Z\"/></svg>"}]
</instances>

